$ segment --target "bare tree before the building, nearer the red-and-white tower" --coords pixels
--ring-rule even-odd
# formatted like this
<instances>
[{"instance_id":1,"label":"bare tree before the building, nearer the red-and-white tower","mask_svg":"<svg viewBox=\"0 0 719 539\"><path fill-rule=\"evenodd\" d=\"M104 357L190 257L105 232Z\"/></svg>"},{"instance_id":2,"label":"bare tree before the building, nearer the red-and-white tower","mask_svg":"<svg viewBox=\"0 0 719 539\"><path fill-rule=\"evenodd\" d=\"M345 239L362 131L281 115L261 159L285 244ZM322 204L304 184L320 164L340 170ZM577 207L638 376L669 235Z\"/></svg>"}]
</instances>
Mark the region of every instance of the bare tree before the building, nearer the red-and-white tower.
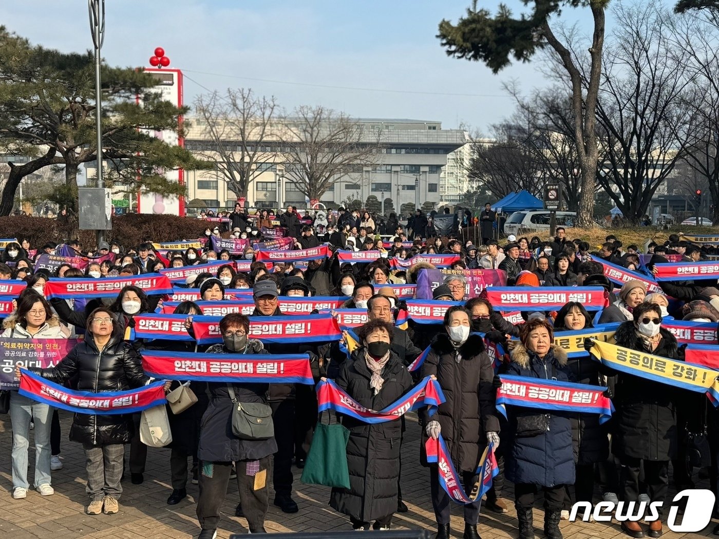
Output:
<instances>
[{"instance_id":1,"label":"bare tree before the building, nearer the red-and-white tower","mask_svg":"<svg viewBox=\"0 0 719 539\"><path fill-rule=\"evenodd\" d=\"M274 160L276 108L274 97L257 97L249 88L228 88L224 95L215 91L195 100L203 136L211 142L211 149L200 153L216 162L218 179L237 198L247 196L249 183L264 172L261 165Z\"/></svg>"}]
</instances>

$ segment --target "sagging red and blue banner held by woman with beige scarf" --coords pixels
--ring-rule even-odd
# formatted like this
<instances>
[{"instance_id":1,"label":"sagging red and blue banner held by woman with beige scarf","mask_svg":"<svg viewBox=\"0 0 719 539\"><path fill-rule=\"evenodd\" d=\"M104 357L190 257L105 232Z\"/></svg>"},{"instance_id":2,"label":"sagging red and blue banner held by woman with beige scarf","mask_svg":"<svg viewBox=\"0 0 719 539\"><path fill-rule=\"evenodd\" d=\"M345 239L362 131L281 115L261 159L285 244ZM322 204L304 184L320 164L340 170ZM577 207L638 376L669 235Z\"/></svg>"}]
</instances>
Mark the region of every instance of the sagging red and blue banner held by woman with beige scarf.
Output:
<instances>
[{"instance_id":1,"label":"sagging red and blue banner held by woman with beige scarf","mask_svg":"<svg viewBox=\"0 0 719 539\"><path fill-rule=\"evenodd\" d=\"M334 410L336 413L348 415L370 424L387 423L425 406L428 407L429 415L434 415L437 407L445 400L439 382L429 376L399 397L398 400L378 411L359 404L331 379L320 381L316 391L319 412Z\"/></svg>"}]
</instances>

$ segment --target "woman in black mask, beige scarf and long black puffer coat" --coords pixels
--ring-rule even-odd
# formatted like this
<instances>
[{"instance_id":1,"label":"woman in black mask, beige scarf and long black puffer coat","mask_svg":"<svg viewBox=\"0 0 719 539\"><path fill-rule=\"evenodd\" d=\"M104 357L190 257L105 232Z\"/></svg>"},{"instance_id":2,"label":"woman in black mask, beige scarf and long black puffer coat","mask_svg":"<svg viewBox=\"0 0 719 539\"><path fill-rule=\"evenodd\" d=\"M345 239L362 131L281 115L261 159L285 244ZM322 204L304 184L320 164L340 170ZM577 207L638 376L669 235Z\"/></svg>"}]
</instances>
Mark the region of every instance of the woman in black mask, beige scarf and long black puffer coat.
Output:
<instances>
[{"instance_id":1,"label":"woman in black mask, beige scarf and long black puffer coat","mask_svg":"<svg viewBox=\"0 0 719 539\"><path fill-rule=\"evenodd\" d=\"M405 364L391 350L394 331L382 320L360 327L361 346L352 352L352 361L344 362L335 379L350 397L372 410L382 410L412 386ZM349 515L353 530L389 530L398 505L400 421L365 423L348 415L339 418L349 429L350 487L333 488L329 505Z\"/></svg>"}]
</instances>

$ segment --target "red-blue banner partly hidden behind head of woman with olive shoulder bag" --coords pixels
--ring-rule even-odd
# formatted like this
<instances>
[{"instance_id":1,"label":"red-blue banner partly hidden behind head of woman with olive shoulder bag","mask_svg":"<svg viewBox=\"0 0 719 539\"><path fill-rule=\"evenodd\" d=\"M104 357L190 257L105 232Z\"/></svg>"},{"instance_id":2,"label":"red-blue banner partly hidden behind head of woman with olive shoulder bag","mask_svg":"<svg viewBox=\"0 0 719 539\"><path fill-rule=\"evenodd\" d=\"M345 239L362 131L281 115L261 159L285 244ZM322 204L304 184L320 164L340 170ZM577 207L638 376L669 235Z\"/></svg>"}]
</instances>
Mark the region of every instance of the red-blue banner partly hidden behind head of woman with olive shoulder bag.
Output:
<instances>
[{"instance_id":1,"label":"red-blue banner partly hidden behind head of woman with olive shoulder bag","mask_svg":"<svg viewBox=\"0 0 719 539\"><path fill-rule=\"evenodd\" d=\"M193 316L192 329L197 344L222 342L217 316ZM342 331L331 314L288 316L250 316L249 338L263 343L303 344L338 341Z\"/></svg>"}]
</instances>

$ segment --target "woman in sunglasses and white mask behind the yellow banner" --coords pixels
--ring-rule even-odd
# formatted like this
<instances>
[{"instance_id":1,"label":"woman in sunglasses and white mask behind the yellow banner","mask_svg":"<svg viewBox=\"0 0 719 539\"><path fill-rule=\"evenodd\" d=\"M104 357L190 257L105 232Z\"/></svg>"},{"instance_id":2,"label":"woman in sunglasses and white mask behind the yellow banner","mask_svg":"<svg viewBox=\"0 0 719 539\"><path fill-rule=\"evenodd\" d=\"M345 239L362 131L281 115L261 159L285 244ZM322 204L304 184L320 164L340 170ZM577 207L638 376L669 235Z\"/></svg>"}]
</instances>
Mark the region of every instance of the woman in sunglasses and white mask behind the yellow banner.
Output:
<instances>
[{"instance_id":1,"label":"woman in sunglasses and white mask behind the yellow banner","mask_svg":"<svg viewBox=\"0 0 719 539\"><path fill-rule=\"evenodd\" d=\"M641 303L614 334L617 346L646 354L680 359L677 338L661 327L661 309L655 303ZM639 473L644 466L644 483L652 502L664 501L669 484L669 461L677 458L677 405L682 390L644 377L617 374L612 402L614 432L612 451L621 464L620 485L625 502L637 502ZM649 537L662 533L662 507L659 519L649 524ZM622 522L622 530L631 537L642 537L638 522Z\"/></svg>"}]
</instances>

